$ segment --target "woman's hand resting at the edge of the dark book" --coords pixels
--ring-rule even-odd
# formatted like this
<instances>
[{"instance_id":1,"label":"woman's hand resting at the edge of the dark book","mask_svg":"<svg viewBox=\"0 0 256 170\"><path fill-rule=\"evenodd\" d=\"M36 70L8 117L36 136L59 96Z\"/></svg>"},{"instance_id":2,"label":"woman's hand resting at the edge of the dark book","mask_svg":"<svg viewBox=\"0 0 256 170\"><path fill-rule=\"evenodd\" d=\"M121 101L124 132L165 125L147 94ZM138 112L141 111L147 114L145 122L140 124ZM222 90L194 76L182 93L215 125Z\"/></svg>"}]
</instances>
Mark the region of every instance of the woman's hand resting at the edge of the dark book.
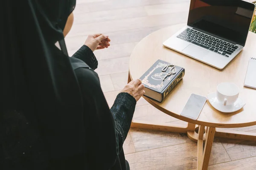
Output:
<instances>
[{"instance_id":1,"label":"woman's hand resting at the edge of the dark book","mask_svg":"<svg viewBox=\"0 0 256 170\"><path fill-rule=\"evenodd\" d=\"M125 88L120 91L120 93L128 93L131 94L131 96L134 97L134 99L138 102L141 96L145 94L145 91L143 91L144 85L141 84L141 80L132 80L131 82L128 83L128 85L125 86Z\"/></svg>"}]
</instances>

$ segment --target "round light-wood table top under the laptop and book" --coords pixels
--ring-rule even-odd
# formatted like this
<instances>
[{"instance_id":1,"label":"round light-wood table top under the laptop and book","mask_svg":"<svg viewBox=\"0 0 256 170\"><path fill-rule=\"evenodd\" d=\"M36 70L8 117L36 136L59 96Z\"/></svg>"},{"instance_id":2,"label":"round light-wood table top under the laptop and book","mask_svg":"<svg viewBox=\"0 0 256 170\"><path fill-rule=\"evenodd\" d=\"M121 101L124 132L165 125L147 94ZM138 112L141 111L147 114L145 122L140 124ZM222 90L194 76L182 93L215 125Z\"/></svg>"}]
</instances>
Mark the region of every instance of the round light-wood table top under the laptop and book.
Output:
<instances>
[{"instance_id":1,"label":"round light-wood table top under the laptop and book","mask_svg":"<svg viewBox=\"0 0 256 170\"><path fill-rule=\"evenodd\" d=\"M186 71L183 80L162 103L143 97L160 111L197 125L208 127L256 125L256 90L243 87L249 57L256 57L256 34L249 32L244 50L221 71L163 46L165 40L184 26L180 24L155 31L134 48L129 68L131 79L139 79L157 59L183 67ZM234 113L222 113L213 108L207 100L198 120L180 116L192 93L207 97L207 94L216 91L217 85L221 82L233 82L239 86L239 97L246 102L244 108Z\"/></svg>"}]
</instances>

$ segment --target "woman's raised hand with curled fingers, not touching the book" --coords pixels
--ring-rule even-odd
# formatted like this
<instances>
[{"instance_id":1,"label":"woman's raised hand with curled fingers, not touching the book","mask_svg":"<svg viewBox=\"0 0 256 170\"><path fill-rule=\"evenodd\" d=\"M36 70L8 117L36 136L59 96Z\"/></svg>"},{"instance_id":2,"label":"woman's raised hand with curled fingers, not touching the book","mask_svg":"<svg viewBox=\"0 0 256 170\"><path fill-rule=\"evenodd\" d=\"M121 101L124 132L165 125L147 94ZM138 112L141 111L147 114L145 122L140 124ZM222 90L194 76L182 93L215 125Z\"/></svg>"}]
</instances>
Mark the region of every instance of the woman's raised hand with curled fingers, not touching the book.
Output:
<instances>
[{"instance_id":1,"label":"woman's raised hand with curled fingers, not touching the book","mask_svg":"<svg viewBox=\"0 0 256 170\"><path fill-rule=\"evenodd\" d=\"M84 42L84 45L89 47L92 51L108 48L110 46L110 39L108 38L108 35L104 34L93 34L88 35L86 41Z\"/></svg>"}]
</instances>

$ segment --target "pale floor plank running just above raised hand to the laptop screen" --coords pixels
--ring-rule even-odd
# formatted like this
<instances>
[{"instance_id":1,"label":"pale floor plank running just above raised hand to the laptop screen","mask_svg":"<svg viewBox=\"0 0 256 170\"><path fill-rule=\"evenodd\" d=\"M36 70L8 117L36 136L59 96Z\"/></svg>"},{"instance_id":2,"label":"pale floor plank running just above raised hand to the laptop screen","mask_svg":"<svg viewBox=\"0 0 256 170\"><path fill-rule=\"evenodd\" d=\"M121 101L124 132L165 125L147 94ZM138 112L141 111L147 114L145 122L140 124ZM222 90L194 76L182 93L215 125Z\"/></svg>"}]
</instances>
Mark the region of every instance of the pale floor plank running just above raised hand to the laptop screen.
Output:
<instances>
[{"instance_id":1,"label":"pale floor plank running just above raised hand to the laptop screen","mask_svg":"<svg viewBox=\"0 0 256 170\"><path fill-rule=\"evenodd\" d=\"M70 34L68 34L67 37L84 36L95 33L109 34L110 32L115 31L149 28L154 26L172 26L175 24L186 23L187 17L188 14L186 12L177 12L171 14L152 15L99 23L76 24L73 25Z\"/></svg>"}]
</instances>

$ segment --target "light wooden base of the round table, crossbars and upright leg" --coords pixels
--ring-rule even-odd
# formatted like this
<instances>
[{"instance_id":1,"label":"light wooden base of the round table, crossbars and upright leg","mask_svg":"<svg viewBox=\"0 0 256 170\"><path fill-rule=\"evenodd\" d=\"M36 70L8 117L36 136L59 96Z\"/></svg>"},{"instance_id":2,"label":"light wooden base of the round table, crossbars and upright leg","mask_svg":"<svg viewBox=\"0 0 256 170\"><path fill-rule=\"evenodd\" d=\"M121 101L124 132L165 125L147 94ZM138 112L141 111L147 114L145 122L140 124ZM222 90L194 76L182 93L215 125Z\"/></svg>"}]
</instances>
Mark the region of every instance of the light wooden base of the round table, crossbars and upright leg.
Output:
<instances>
[{"instance_id":1,"label":"light wooden base of the round table, crossbars and upright leg","mask_svg":"<svg viewBox=\"0 0 256 170\"><path fill-rule=\"evenodd\" d=\"M130 74L128 75L128 83L131 81ZM140 128L147 130L160 130L167 132L186 133L189 139L193 142L197 142L198 147L198 170L207 170L210 153L212 150L212 144L214 137L222 137L228 139L239 139L256 142L256 133L242 132L237 130L229 130L215 127L205 127L201 125L195 125L188 123L187 125L179 125L168 123L168 125L153 125L148 122L135 122L131 123L132 128ZM205 142L205 144L204 144ZM204 144L204 147L203 147Z\"/></svg>"}]
</instances>

